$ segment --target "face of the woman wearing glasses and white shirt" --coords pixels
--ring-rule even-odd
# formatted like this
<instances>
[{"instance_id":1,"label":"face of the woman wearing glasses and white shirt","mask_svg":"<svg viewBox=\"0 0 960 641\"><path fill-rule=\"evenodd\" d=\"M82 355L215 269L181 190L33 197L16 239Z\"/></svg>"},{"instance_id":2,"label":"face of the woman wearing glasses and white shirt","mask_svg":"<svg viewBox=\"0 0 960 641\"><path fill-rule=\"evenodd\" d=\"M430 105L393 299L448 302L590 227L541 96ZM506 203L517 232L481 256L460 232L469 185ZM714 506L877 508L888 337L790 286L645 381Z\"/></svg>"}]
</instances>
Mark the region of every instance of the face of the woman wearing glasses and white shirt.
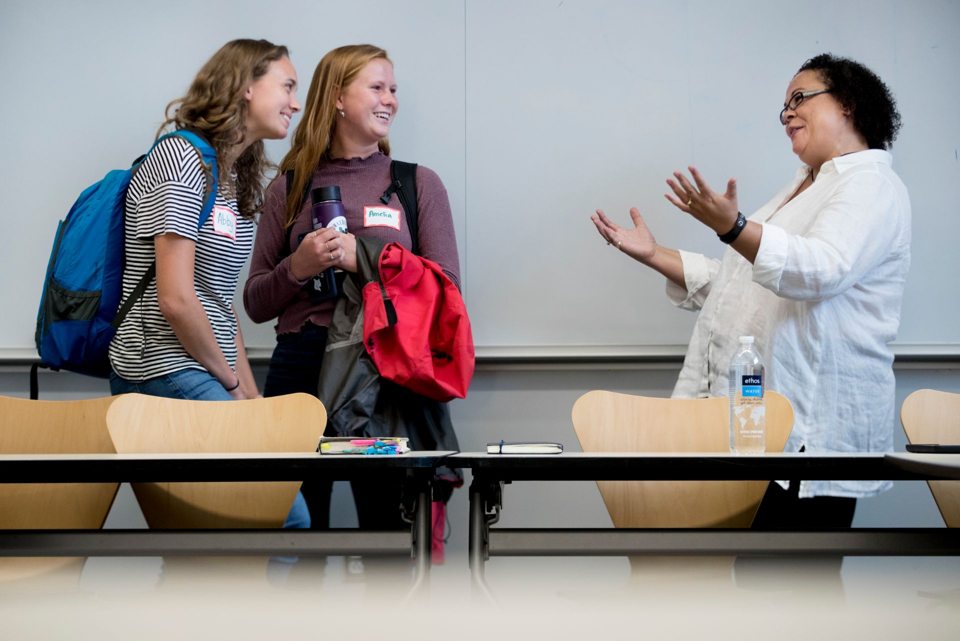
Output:
<instances>
[{"instance_id":1,"label":"face of the woman wearing glasses and white shirt","mask_svg":"<svg viewBox=\"0 0 960 641\"><path fill-rule=\"evenodd\" d=\"M802 71L794 76L786 89L784 105L801 91L825 89L827 84L814 70ZM830 158L846 154L850 140L860 138L853 129L850 113L829 93L821 93L804 99L796 109L783 113L786 134L793 144L793 153L804 164L819 170Z\"/></svg>"}]
</instances>

